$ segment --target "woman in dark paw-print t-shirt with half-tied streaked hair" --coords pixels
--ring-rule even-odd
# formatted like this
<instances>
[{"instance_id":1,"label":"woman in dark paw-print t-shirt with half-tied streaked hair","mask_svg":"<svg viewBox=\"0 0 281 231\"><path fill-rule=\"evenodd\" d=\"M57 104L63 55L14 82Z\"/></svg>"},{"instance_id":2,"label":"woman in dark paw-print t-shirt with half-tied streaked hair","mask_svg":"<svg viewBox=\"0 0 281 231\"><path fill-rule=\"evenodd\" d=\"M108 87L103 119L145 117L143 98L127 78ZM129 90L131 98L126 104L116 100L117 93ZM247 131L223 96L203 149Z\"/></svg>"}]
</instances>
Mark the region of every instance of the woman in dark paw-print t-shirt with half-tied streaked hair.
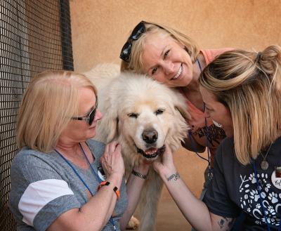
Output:
<instances>
[{"instance_id":1,"label":"woman in dark paw-print t-shirt with half-tied streaked hair","mask_svg":"<svg viewBox=\"0 0 281 231\"><path fill-rule=\"evenodd\" d=\"M281 47L228 51L200 76L206 116L226 131L218 147L214 178L203 202L175 169L169 150L155 170L196 230L281 230Z\"/></svg>"}]
</instances>

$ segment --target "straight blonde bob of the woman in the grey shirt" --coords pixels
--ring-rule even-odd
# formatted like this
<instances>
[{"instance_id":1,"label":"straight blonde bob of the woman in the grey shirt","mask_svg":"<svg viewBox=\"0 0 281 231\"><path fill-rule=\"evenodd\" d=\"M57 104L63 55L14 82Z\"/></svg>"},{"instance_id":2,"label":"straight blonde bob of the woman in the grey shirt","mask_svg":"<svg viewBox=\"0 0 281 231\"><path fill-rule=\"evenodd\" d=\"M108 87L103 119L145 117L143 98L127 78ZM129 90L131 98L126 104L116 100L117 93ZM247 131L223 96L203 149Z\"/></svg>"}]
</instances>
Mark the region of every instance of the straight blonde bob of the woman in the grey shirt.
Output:
<instances>
[{"instance_id":1,"label":"straight blonde bob of the woman in the grey shirt","mask_svg":"<svg viewBox=\"0 0 281 231\"><path fill-rule=\"evenodd\" d=\"M96 88L83 74L41 72L32 79L20 104L16 138L18 147L50 152L71 117L77 115L81 87Z\"/></svg>"}]
</instances>

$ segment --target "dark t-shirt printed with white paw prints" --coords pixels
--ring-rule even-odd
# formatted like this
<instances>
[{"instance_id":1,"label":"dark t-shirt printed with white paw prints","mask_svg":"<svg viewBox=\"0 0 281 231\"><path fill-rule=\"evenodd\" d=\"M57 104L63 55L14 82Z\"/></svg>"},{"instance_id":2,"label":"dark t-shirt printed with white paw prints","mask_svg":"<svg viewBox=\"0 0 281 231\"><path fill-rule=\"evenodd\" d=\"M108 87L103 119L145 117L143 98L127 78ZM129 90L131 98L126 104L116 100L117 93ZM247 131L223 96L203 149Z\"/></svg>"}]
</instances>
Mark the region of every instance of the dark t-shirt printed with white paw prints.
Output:
<instances>
[{"instance_id":1,"label":"dark t-shirt printed with white paw prints","mask_svg":"<svg viewBox=\"0 0 281 231\"><path fill-rule=\"evenodd\" d=\"M266 152L262 153L264 157ZM255 164L270 230L278 229L281 218L281 178L275 178L275 167L281 166L281 138L270 147L266 171L261 169L263 157L260 154L254 163L244 166L235 157L233 139L223 140L216 152L214 178L203 200L211 213L235 218L244 211L246 221L242 230L267 230L254 175Z\"/></svg>"}]
</instances>

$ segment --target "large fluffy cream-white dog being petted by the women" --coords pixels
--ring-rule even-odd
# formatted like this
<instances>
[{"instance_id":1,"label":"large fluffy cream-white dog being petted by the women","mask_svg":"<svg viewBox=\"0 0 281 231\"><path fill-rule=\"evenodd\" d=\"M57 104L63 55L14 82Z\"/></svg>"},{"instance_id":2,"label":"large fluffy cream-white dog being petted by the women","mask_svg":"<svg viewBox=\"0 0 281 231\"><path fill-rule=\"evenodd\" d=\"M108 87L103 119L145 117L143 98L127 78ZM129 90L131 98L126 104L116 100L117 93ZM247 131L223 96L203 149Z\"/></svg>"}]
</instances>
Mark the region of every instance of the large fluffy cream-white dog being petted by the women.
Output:
<instances>
[{"instance_id":1,"label":"large fluffy cream-white dog being petted by the women","mask_svg":"<svg viewBox=\"0 0 281 231\"><path fill-rule=\"evenodd\" d=\"M126 176L141 159L161 158L164 143L173 151L180 147L190 117L181 94L144 75L119 74L118 65L98 65L84 74L98 88L103 113L95 139L121 143ZM140 231L153 230L161 189L161 178L150 168L139 203Z\"/></svg>"}]
</instances>

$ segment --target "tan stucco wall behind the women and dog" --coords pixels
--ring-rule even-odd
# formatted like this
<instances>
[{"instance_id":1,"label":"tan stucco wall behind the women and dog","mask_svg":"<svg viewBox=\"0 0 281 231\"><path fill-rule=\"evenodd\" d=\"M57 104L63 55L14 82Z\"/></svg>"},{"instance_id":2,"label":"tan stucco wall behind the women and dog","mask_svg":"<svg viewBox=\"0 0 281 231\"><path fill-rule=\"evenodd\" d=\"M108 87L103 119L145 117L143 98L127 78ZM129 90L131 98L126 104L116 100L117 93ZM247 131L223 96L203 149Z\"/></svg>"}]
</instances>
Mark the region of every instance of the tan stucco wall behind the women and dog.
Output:
<instances>
[{"instance_id":1,"label":"tan stucco wall behind the women and dog","mask_svg":"<svg viewBox=\"0 0 281 231\"><path fill-rule=\"evenodd\" d=\"M162 22L195 39L202 48L254 48L281 44L280 0L70 0L74 70L100 62L119 63L129 32L141 20ZM198 196L206 162L180 150L176 164ZM164 197L168 192L164 190Z\"/></svg>"}]
</instances>

